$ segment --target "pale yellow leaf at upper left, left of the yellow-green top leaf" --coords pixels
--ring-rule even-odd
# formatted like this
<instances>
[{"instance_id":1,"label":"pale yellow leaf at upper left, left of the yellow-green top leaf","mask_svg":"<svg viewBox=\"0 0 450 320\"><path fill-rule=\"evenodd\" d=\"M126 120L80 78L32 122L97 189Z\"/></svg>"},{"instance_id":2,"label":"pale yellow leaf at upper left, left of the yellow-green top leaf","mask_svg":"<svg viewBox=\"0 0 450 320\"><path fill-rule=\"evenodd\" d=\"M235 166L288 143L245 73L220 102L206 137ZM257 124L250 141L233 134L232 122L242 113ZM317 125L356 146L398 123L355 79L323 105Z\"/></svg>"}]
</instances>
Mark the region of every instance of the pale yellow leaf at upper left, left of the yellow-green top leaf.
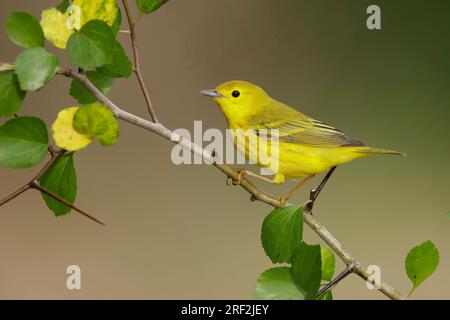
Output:
<instances>
[{"instance_id":1,"label":"pale yellow leaf at upper left, left of the yellow-green top leaf","mask_svg":"<svg viewBox=\"0 0 450 320\"><path fill-rule=\"evenodd\" d=\"M41 26L45 38L60 49L65 49L67 41L74 32L67 24L69 14L61 13L56 8L42 11Z\"/></svg>"}]
</instances>

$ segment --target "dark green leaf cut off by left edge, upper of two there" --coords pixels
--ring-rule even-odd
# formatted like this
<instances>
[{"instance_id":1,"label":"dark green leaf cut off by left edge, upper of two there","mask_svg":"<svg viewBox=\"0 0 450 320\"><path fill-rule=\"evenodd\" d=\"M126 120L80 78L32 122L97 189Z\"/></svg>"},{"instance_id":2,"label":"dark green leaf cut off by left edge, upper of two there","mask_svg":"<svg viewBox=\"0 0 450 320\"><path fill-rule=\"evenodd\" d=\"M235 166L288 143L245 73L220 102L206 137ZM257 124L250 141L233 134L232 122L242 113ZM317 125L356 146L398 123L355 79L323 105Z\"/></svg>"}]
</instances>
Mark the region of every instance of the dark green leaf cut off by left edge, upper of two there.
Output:
<instances>
[{"instance_id":1,"label":"dark green leaf cut off by left edge, upper of two there","mask_svg":"<svg viewBox=\"0 0 450 320\"><path fill-rule=\"evenodd\" d=\"M0 72L0 117L9 117L19 111L25 95L13 70Z\"/></svg>"}]
</instances>

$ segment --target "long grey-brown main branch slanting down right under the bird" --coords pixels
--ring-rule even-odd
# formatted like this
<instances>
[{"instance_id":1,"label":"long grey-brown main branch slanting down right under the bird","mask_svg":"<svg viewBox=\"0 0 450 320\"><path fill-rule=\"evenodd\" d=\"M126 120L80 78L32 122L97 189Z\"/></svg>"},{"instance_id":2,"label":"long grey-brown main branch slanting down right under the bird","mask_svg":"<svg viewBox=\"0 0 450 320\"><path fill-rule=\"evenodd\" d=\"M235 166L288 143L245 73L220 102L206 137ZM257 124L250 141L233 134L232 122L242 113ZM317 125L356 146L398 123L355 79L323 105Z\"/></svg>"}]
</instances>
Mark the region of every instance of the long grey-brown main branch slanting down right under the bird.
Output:
<instances>
[{"instance_id":1,"label":"long grey-brown main branch slanting down right under the bird","mask_svg":"<svg viewBox=\"0 0 450 320\"><path fill-rule=\"evenodd\" d=\"M205 162L211 163L214 167L225 173L229 178L237 180L239 178L239 172L234 170L231 166L227 164L218 163L215 156L211 152L204 150L201 146L196 145L192 141L182 138L180 135L169 130L161 123L154 123L138 116L135 116L122 108L118 107L111 100L109 100L105 95L103 95L88 78L83 75L77 74L70 69L61 69L59 74L70 77L74 80L79 81L90 93L92 93L100 102L107 105L111 111L120 120L133 124L135 126L141 127L150 132L156 133L159 136L170 140L174 143L181 145L182 147L190 150L194 154L203 157ZM272 207L280 207L280 201L278 198L266 193L265 191L257 188L248 179L242 178L239 184L243 189L245 189L253 200L259 200ZM308 211L308 203L305 204L305 211L303 213L303 219L306 224L311 227L311 229L320 237L323 241L345 262L347 266L353 266L353 272L360 276L364 280L368 280L371 274L369 274L366 269L361 265L361 263L354 258L349 251L347 251L341 243L323 226L313 215L311 211ZM381 283L378 289L381 293L386 295L391 299L406 299L400 292L391 287L385 282Z\"/></svg>"}]
</instances>

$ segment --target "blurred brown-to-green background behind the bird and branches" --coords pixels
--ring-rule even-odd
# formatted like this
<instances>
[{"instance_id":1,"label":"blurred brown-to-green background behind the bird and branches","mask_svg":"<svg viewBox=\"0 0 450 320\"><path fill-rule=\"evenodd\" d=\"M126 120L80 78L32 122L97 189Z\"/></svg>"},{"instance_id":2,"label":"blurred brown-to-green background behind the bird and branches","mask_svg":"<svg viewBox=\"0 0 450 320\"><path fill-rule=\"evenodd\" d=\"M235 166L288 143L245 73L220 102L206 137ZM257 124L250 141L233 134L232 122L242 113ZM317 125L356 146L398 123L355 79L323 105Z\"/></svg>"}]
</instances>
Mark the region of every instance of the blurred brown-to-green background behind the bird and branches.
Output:
<instances>
[{"instance_id":1,"label":"blurred brown-to-green background behind the bird and branches","mask_svg":"<svg viewBox=\"0 0 450 320\"><path fill-rule=\"evenodd\" d=\"M39 17L55 4L2 1L0 23L12 10ZM366 28L371 4L381 7L382 30ZM219 109L198 91L242 79L371 146L408 153L338 168L315 215L405 294L406 253L432 240L440 265L412 297L448 299L448 12L447 0L173 0L138 25L142 68L160 119L173 129L192 128L194 120L224 129ZM12 62L20 51L2 30L0 61ZM58 78L29 94L21 114L51 124L59 109L75 105L69 85ZM110 97L146 116L135 79L118 81ZM251 298L258 275L271 266L259 240L270 208L227 187L207 165L173 165L171 148L123 124L116 146L77 154L77 204L106 228L76 213L55 219L33 191L0 208L0 298ZM0 195L36 170L0 169ZM292 185L265 187L281 195ZM304 191L294 200L306 197ZM306 237L320 242L309 230ZM70 264L81 267L80 291L65 287ZM384 299L355 275L334 295Z\"/></svg>"}]
</instances>

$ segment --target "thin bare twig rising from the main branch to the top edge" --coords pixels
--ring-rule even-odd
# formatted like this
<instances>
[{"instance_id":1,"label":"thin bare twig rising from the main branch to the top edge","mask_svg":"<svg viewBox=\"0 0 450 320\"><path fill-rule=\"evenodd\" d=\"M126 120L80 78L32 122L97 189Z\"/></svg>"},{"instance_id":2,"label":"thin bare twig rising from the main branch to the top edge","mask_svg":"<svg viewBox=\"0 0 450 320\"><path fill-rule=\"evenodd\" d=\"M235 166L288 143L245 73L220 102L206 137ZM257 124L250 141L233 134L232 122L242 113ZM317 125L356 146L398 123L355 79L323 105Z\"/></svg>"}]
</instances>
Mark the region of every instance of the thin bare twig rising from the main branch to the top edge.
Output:
<instances>
[{"instance_id":1,"label":"thin bare twig rising from the main branch to the top edge","mask_svg":"<svg viewBox=\"0 0 450 320\"><path fill-rule=\"evenodd\" d=\"M139 49L137 44L137 38L136 38L136 23L133 22L133 18L131 17L130 8L128 7L127 0L122 0L123 7L125 9L125 13L128 20L128 25L130 26L130 38L131 38L131 47L133 48L133 55L134 55L134 73L136 74L136 77L139 82L139 86L141 87L142 94L144 95L145 103L147 104L147 109L150 114L150 117L153 122L159 122L158 117L156 116L156 112L153 108L152 101L150 99L150 94L148 92L147 86L145 84L144 78L142 77L141 72L141 60L139 57Z\"/></svg>"}]
</instances>

